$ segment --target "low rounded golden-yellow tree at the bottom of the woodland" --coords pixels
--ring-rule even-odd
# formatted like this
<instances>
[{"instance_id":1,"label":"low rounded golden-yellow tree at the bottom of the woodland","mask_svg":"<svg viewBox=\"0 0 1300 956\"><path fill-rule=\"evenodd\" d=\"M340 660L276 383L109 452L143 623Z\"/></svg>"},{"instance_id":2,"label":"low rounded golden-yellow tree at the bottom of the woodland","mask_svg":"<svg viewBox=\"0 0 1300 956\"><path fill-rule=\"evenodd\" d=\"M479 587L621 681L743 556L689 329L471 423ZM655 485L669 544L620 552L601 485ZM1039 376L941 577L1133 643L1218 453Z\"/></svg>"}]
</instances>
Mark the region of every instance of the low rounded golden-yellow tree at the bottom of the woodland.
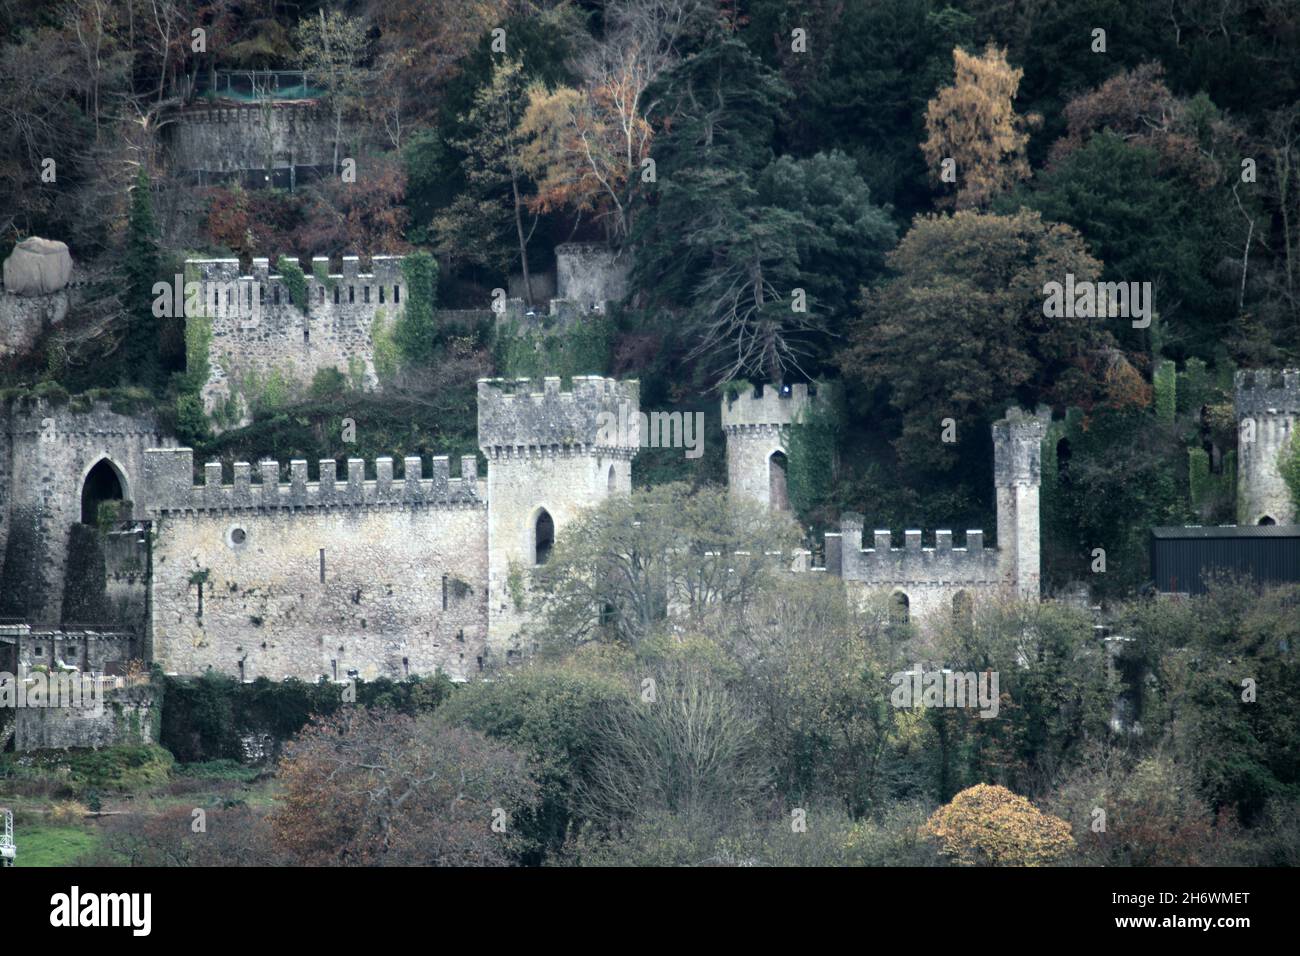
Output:
<instances>
[{"instance_id":1,"label":"low rounded golden-yellow tree at the bottom of the woodland","mask_svg":"<svg viewBox=\"0 0 1300 956\"><path fill-rule=\"evenodd\" d=\"M1066 821L987 783L935 810L922 832L961 866L1046 866L1074 849Z\"/></svg>"}]
</instances>

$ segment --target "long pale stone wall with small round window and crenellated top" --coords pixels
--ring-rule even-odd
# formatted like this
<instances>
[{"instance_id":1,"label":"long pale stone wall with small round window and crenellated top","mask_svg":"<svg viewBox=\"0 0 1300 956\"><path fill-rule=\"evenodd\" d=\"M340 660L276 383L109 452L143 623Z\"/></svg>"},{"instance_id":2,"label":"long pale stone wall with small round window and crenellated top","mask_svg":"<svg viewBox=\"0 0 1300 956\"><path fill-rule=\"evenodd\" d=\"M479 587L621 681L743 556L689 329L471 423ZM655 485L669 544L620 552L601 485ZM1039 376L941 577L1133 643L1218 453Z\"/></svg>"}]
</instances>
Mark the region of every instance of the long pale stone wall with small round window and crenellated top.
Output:
<instances>
[{"instance_id":1,"label":"long pale stone wall with small round window and crenellated top","mask_svg":"<svg viewBox=\"0 0 1300 956\"><path fill-rule=\"evenodd\" d=\"M168 672L234 678L396 678L443 670L467 679L489 661L486 506L474 459L450 477L436 458L365 479L360 459L335 476L291 479L261 463L261 483L220 463L191 485L188 449L151 451L155 489L153 658Z\"/></svg>"}]
</instances>

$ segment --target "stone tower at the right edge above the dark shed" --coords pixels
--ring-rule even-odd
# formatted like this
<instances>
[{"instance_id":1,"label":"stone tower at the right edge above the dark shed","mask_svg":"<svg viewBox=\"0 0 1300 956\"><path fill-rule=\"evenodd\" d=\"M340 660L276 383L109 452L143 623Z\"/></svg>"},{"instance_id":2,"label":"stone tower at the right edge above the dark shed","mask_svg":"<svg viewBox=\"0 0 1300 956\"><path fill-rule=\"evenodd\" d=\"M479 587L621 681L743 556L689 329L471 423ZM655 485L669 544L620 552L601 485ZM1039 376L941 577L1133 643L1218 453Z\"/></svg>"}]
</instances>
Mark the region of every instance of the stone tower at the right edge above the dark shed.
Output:
<instances>
[{"instance_id":1,"label":"stone tower at the right edge above the dark shed","mask_svg":"<svg viewBox=\"0 0 1300 956\"><path fill-rule=\"evenodd\" d=\"M1238 524L1295 524L1279 458L1296 431L1300 369L1236 373Z\"/></svg>"}]
</instances>

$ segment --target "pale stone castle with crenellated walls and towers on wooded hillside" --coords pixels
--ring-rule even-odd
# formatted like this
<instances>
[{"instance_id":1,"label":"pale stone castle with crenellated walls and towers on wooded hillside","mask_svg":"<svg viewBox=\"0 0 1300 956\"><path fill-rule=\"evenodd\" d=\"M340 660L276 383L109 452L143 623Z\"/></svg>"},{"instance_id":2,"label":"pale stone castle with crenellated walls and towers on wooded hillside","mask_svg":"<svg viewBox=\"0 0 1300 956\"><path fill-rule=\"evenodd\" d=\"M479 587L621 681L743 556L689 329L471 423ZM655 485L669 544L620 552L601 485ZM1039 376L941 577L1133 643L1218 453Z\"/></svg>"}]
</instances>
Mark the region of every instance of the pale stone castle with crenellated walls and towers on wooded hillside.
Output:
<instances>
[{"instance_id":1,"label":"pale stone castle with crenellated walls and towers on wooded hillside","mask_svg":"<svg viewBox=\"0 0 1300 956\"><path fill-rule=\"evenodd\" d=\"M377 256L361 272L348 258L337 274L316 263L298 303L266 260L247 276L237 260L191 263L211 323L209 408L243 402L240 389L276 369L309 381L321 368L346 368L376 384L376 324L410 299L402 261ZM584 287L585 308L603 289ZM552 315L573 308L571 299L554 300ZM723 398L734 498L789 507L790 428L822 399L807 385ZM229 472L212 462L196 483L194 453L150 411L88 398L8 401L0 671L120 672L139 658L172 674L242 680L436 671L469 680L526 654L530 570L584 510L632 489L637 436L602 423L634 418L640 388L601 376L575 376L568 390L558 377L481 380L477 405L485 473L477 455L455 467L445 457L350 459L342 468L333 459L237 462ZM1291 523L1279 454L1300 414L1300 372L1239 373L1236 408L1240 520ZM919 529L904 532L902 548L887 529L864 541L863 518L848 514L826 535L822 566L811 567L807 551L783 561L838 578L854 601L889 596L902 619L1037 597L1049 419L1046 410L1011 408L992 427L996 548L980 529L961 542L939 529L933 546L923 546Z\"/></svg>"}]
</instances>

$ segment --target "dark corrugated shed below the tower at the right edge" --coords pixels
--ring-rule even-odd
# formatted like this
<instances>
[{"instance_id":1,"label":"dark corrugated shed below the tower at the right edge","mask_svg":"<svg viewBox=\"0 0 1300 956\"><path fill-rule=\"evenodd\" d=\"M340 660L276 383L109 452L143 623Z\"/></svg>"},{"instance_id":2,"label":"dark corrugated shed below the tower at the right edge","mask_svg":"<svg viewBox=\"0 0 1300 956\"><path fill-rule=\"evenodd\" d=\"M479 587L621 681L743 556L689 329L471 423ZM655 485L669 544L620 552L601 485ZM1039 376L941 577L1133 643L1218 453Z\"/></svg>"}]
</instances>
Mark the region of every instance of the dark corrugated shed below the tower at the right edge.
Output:
<instances>
[{"instance_id":1,"label":"dark corrugated shed below the tower at the right edge","mask_svg":"<svg viewBox=\"0 0 1300 956\"><path fill-rule=\"evenodd\" d=\"M1165 594L1204 594L1217 575L1300 583L1300 524L1152 528L1150 571Z\"/></svg>"}]
</instances>

